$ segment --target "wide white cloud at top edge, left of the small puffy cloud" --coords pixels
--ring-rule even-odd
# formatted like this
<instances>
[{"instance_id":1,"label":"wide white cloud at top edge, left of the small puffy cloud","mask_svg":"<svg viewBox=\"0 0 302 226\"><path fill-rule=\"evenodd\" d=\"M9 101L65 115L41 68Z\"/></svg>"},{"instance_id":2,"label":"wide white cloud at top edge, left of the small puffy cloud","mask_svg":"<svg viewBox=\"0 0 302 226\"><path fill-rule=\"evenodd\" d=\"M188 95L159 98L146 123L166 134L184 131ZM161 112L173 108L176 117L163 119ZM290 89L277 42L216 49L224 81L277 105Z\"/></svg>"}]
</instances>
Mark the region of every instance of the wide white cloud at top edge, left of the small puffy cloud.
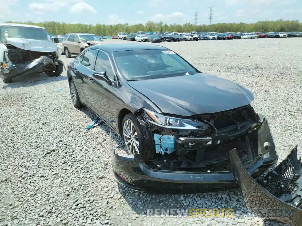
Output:
<instances>
[{"instance_id":1,"label":"wide white cloud at top edge, left of the small puffy cloud","mask_svg":"<svg viewBox=\"0 0 302 226\"><path fill-rule=\"evenodd\" d=\"M59 11L78 2L81 0L44 0L43 2L30 2L28 8L35 14L43 14L46 11Z\"/></svg>"}]
</instances>

